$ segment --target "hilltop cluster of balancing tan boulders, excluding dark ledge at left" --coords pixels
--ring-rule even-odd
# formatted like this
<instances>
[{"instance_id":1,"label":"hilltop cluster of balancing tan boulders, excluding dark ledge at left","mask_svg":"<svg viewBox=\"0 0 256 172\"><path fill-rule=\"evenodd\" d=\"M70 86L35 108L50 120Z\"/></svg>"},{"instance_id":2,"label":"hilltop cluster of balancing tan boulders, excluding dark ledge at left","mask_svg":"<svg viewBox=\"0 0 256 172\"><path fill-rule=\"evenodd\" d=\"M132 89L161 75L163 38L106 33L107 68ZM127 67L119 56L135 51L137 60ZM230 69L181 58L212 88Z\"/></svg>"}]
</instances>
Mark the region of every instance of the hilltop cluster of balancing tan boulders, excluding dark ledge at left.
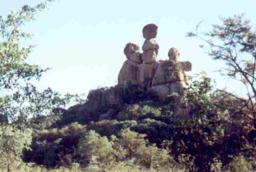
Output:
<instances>
[{"instance_id":1,"label":"hilltop cluster of balancing tan boulders, excluding dark ledge at left","mask_svg":"<svg viewBox=\"0 0 256 172\"><path fill-rule=\"evenodd\" d=\"M187 114L188 108L183 101L183 90L188 84L185 71L191 71L190 62L180 62L180 53L176 48L168 52L169 60L156 61L159 45L157 44L157 26L148 24L143 28L146 39L142 46L128 43L124 48L127 57L118 75L118 85L140 84L147 90L154 90L161 100L168 95L176 95L175 114Z\"/></svg>"}]
</instances>

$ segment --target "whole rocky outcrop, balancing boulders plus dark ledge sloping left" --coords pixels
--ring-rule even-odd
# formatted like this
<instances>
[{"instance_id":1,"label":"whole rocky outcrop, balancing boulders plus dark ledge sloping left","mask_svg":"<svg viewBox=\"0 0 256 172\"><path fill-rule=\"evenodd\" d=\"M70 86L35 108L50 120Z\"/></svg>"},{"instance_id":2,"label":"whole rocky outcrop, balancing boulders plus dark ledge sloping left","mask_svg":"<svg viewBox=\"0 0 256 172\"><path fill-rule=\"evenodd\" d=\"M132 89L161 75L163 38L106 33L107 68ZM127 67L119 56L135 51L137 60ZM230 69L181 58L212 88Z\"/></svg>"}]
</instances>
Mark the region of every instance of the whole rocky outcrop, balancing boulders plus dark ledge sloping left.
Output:
<instances>
[{"instance_id":1,"label":"whole rocky outcrop, balancing boulders plus dark ledge sloping left","mask_svg":"<svg viewBox=\"0 0 256 172\"><path fill-rule=\"evenodd\" d=\"M146 39L142 46L129 42L124 47L126 61L118 74L118 85L109 89L92 90L84 108L102 109L104 107L122 106L129 96L130 87L139 86L146 91L154 91L159 99L165 100L168 95L174 95L176 115L185 115L189 111L184 101L184 89L188 84L185 71L191 71L190 62L180 62L180 52L171 48L168 60L157 61L159 45L156 38L158 27L148 24L143 28ZM125 98L126 97L126 98ZM108 119L111 113L104 112L100 118Z\"/></svg>"}]
</instances>

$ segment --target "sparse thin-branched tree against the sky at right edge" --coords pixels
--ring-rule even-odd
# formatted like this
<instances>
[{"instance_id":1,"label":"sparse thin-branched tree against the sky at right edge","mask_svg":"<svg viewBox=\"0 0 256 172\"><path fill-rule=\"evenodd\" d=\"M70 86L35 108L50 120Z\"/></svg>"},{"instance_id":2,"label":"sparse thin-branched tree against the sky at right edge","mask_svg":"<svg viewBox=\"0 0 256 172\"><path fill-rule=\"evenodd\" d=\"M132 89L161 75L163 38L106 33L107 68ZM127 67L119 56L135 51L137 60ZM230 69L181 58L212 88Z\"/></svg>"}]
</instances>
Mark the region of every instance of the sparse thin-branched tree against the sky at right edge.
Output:
<instances>
[{"instance_id":1,"label":"sparse thin-branched tree against the sky at right edge","mask_svg":"<svg viewBox=\"0 0 256 172\"><path fill-rule=\"evenodd\" d=\"M222 95L231 95L235 98L228 104L226 102L226 108L233 111L233 114L239 113L246 117L256 128L256 33L252 31L250 21L246 20L243 14L220 19L222 24L212 25L212 30L198 31L199 23L196 31L189 32L187 36L204 40L206 49L209 50L208 55L226 64L221 73L244 84L247 99L224 90L220 91Z\"/></svg>"}]
</instances>

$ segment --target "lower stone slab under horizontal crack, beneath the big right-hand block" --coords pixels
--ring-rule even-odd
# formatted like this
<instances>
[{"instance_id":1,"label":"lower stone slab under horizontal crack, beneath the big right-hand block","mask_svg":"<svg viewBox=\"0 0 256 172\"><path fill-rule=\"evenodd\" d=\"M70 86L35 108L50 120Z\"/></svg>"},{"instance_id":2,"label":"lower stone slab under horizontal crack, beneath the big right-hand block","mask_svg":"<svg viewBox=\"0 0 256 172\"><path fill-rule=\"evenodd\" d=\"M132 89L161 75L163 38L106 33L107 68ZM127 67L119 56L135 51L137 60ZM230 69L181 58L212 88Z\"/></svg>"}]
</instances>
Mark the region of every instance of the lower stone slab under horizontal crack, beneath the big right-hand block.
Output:
<instances>
[{"instance_id":1,"label":"lower stone slab under horizontal crack, beneath the big right-hand block","mask_svg":"<svg viewBox=\"0 0 256 172\"><path fill-rule=\"evenodd\" d=\"M152 90L156 91L157 95L161 100L164 100L168 95L183 96L184 81L172 82L161 85L152 86Z\"/></svg>"}]
</instances>

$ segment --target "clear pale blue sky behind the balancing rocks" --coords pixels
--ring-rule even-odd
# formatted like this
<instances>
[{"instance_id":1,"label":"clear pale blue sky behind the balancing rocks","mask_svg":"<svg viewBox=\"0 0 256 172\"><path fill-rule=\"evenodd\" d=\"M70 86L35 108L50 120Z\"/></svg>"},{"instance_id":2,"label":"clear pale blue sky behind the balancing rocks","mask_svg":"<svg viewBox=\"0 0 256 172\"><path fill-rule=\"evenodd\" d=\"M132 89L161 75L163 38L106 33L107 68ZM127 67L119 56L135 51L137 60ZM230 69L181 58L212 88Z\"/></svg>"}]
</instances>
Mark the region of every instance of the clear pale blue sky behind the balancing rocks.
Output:
<instances>
[{"instance_id":1,"label":"clear pale blue sky behind the balancing rocks","mask_svg":"<svg viewBox=\"0 0 256 172\"><path fill-rule=\"evenodd\" d=\"M40 0L0 0L3 16L22 5L36 5ZM158 60L167 59L168 50L180 50L181 61L190 61L189 75L204 70L216 79L217 86L240 94L237 84L212 71L221 67L199 48L200 41L185 37L196 24L204 20L203 29L218 24L219 16L245 13L256 21L255 0L56 0L26 30L35 34L37 44L28 61L42 67L52 67L44 74L40 89L52 87L61 93L88 93L97 87L117 84L119 70L125 61L123 48L128 42L141 47L142 28L148 23L158 25L156 41L160 49Z\"/></svg>"}]
</instances>

